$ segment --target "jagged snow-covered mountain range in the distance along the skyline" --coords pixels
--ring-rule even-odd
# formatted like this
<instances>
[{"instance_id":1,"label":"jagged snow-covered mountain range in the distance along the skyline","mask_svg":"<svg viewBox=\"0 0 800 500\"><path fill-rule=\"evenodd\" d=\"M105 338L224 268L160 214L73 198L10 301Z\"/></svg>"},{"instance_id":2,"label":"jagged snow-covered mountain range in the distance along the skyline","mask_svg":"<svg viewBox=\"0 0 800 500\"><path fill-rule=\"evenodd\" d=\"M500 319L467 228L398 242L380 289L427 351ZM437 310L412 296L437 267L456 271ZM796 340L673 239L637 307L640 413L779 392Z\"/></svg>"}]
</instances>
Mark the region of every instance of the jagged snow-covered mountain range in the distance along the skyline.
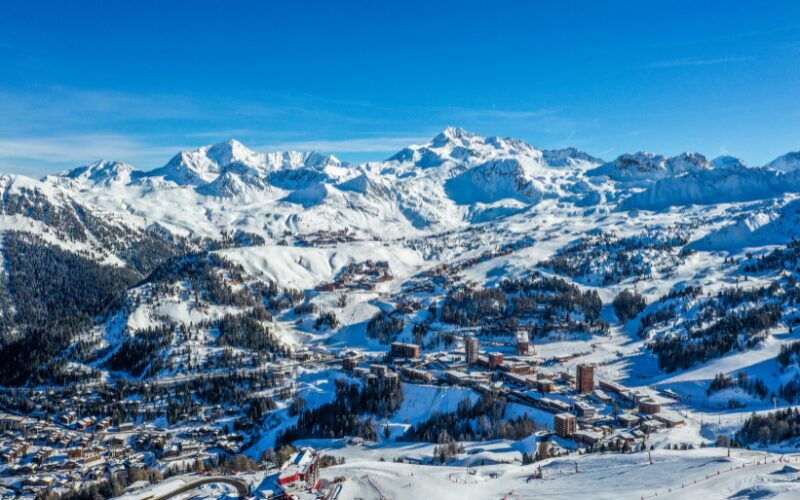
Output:
<instances>
[{"instance_id":1,"label":"jagged snow-covered mountain range in the distance along the skyline","mask_svg":"<svg viewBox=\"0 0 800 500\"><path fill-rule=\"evenodd\" d=\"M699 153L639 152L603 162L576 148L539 150L448 127L382 162L255 152L228 140L182 151L148 172L100 161L43 182L140 225L155 219L182 234L218 234L233 221L265 236L348 229L399 237L502 218L548 199L602 211L767 199L798 191L792 155L761 169Z\"/></svg>"}]
</instances>

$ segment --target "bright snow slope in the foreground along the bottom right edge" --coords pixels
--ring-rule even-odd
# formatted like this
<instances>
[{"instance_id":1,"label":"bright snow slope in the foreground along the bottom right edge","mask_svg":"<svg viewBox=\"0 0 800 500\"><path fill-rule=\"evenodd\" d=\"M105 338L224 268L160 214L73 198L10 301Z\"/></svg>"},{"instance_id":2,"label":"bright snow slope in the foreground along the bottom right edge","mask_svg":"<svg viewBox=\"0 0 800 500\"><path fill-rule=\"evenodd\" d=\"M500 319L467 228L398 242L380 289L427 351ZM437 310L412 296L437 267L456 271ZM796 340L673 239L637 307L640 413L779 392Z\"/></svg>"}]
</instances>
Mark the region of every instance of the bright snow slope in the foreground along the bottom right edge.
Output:
<instances>
[{"instance_id":1,"label":"bright snow slope in the foreground along the bottom right edge","mask_svg":"<svg viewBox=\"0 0 800 500\"><path fill-rule=\"evenodd\" d=\"M344 499L790 499L800 495L797 455L734 452L729 458L725 450L705 449L654 451L652 464L647 453L584 455L525 466L430 467L392 462L393 457L414 452L413 446L381 452L341 450L346 463L325 469L323 477L346 477L340 496ZM529 480L539 465L543 478Z\"/></svg>"}]
</instances>

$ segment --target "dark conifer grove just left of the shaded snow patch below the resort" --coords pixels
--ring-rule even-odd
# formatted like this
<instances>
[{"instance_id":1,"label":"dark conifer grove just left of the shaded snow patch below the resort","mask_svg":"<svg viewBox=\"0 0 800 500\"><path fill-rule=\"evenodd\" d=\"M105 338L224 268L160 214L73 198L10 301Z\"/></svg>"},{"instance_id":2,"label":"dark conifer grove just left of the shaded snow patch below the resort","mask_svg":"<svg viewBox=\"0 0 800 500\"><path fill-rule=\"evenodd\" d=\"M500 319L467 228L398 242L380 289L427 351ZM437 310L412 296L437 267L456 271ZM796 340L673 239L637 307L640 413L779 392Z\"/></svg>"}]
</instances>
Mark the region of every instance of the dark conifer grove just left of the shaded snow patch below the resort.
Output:
<instances>
[{"instance_id":1,"label":"dark conifer grove just left of the shaded snow patch below the resort","mask_svg":"<svg viewBox=\"0 0 800 500\"><path fill-rule=\"evenodd\" d=\"M372 417L385 418L394 413L403 402L402 384L376 384L360 387L341 379L336 382L336 399L317 408L302 411L297 423L280 433L278 446L290 444L298 439L332 439L345 436L360 436L375 441L377 426Z\"/></svg>"}]
</instances>

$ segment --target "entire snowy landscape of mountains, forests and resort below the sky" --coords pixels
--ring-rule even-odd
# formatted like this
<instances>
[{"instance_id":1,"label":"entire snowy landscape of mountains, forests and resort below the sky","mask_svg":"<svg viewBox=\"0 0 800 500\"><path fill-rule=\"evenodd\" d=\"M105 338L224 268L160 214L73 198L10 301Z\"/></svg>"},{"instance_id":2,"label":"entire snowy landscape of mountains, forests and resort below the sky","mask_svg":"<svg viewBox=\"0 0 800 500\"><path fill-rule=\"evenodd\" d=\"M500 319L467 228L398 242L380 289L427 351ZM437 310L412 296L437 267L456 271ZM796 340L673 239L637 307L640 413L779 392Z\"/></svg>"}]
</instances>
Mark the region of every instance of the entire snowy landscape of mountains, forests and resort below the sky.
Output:
<instances>
[{"instance_id":1,"label":"entire snowy landscape of mountains, forests and resort below the sky","mask_svg":"<svg viewBox=\"0 0 800 500\"><path fill-rule=\"evenodd\" d=\"M449 127L0 191L0 498L800 496L798 153Z\"/></svg>"}]
</instances>

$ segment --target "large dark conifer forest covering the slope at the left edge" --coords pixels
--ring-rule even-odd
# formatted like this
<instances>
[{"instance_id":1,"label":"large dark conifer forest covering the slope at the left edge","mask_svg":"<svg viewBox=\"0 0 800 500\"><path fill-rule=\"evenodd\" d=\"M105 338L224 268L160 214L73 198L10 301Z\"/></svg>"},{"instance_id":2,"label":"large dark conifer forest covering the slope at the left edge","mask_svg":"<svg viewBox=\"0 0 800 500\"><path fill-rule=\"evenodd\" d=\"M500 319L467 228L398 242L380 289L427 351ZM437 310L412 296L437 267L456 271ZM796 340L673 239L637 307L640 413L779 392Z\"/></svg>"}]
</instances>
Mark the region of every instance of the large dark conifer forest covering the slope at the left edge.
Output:
<instances>
[{"instance_id":1,"label":"large dark conifer forest covering the slope at the left edge","mask_svg":"<svg viewBox=\"0 0 800 500\"><path fill-rule=\"evenodd\" d=\"M3 238L7 298L0 332L0 384L43 384L61 373L70 342L95 318L122 306L138 280L127 268L105 266L29 233Z\"/></svg>"}]
</instances>

